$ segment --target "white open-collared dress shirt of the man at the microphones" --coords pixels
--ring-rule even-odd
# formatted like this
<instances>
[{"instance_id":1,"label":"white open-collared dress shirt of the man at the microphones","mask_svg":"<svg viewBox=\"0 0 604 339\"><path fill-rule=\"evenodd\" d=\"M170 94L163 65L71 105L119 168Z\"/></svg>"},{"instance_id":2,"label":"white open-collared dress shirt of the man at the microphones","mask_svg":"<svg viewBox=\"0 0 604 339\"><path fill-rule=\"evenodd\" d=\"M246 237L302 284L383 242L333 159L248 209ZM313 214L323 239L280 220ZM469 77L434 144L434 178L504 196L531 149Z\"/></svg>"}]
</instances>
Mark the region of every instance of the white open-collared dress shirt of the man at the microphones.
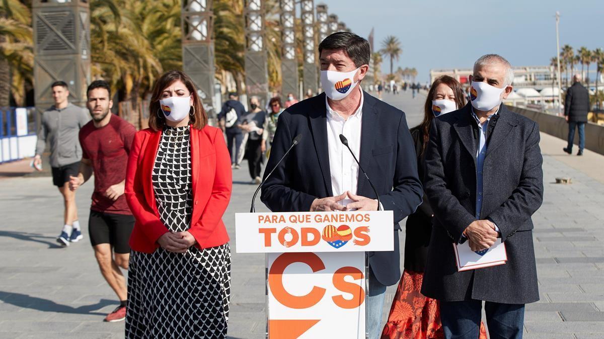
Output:
<instances>
[{"instance_id":1,"label":"white open-collared dress shirt of the man at the microphones","mask_svg":"<svg viewBox=\"0 0 604 339\"><path fill-rule=\"evenodd\" d=\"M356 159L359 159L361 153L363 92L361 91L359 108L348 119L342 118L338 112L329 107L327 97L325 97L325 106L327 107L327 150L333 195L340 195L346 191L357 194L359 165L353 159L350 151L342 144L339 135L344 135L348 139L350 149L355 153ZM339 203L346 206L352 202L352 199L345 198Z\"/></svg>"}]
</instances>

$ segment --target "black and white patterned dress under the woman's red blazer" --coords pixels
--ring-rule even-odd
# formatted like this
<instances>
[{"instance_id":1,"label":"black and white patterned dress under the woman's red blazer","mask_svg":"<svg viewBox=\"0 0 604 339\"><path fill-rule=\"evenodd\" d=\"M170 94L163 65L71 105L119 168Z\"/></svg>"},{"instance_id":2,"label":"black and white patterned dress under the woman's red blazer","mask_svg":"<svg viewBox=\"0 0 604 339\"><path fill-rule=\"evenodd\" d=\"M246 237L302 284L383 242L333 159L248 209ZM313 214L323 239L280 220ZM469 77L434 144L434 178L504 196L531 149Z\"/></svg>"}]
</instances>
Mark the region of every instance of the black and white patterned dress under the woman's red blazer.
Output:
<instances>
[{"instance_id":1,"label":"black and white patterned dress under the woman's red blazer","mask_svg":"<svg viewBox=\"0 0 604 339\"><path fill-rule=\"evenodd\" d=\"M159 219L172 232L190 228L188 127L165 127L153 166ZM230 301L228 244L184 254L132 251L126 338L225 338Z\"/></svg>"}]
</instances>

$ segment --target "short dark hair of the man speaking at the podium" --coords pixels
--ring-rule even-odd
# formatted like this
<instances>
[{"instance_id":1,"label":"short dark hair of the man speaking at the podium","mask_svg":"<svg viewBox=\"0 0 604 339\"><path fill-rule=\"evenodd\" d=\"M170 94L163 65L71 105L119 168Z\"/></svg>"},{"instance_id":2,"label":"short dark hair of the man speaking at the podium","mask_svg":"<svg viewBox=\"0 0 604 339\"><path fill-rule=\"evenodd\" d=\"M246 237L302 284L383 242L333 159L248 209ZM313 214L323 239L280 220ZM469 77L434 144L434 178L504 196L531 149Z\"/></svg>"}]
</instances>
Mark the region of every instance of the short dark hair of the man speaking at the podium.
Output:
<instances>
[{"instance_id":1,"label":"short dark hair of the man speaking at the podium","mask_svg":"<svg viewBox=\"0 0 604 339\"><path fill-rule=\"evenodd\" d=\"M323 49L343 49L355 63L356 67L369 65L369 60L371 58L369 42L355 33L350 32L336 32L330 34L319 44L319 56L321 56Z\"/></svg>"}]
</instances>

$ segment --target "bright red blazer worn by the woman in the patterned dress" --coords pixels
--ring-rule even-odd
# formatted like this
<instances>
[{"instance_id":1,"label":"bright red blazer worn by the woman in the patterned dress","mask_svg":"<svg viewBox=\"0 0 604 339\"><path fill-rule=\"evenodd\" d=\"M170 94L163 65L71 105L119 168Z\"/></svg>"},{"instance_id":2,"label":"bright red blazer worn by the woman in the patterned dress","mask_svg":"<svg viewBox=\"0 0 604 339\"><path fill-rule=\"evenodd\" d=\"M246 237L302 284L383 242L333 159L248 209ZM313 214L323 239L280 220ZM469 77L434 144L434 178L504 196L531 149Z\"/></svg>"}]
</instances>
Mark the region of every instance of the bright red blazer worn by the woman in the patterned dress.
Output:
<instances>
[{"instance_id":1,"label":"bright red blazer worn by the woman in the patterned dress","mask_svg":"<svg viewBox=\"0 0 604 339\"><path fill-rule=\"evenodd\" d=\"M205 249L229 241L222 215L233 188L231 157L218 128L190 130L193 216L188 232L197 240L195 247ZM151 181L160 139L161 131L138 131L128 159L125 194L136 218L130 248L138 252L153 253L159 247L157 239L168 232L159 220Z\"/></svg>"}]
</instances>

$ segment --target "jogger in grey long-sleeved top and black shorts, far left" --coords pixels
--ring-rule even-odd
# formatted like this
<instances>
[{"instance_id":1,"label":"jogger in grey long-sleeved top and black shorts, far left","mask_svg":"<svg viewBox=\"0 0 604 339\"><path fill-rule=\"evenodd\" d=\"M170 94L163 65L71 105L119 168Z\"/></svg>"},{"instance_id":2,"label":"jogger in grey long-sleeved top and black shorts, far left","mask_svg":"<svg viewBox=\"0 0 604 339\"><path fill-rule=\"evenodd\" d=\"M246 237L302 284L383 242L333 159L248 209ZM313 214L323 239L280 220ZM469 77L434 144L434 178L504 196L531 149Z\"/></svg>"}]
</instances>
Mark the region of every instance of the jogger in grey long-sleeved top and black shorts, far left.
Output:
<instances>
[{"instance_id":1,"label":"jogger in grey long-sleeved top and black shorts, far left","mask_svg":"<svg viewBox=\"0 0 604 339\"><path fill-rule=\"evenodd\" d=\"M69 189L69 177L77 176L82 159L82 147L78 141L80 128L89 120L82 107L69 103L69 90L64 81L55 81L51 86L54 105L45 110L40 122L34 156L34 168L42 171L42 153L50 143L50 166L53 184L63 197L63 229L57 236L62 247L83 238L77 217L76 193Z\"/></svg>"}]
</instances>

